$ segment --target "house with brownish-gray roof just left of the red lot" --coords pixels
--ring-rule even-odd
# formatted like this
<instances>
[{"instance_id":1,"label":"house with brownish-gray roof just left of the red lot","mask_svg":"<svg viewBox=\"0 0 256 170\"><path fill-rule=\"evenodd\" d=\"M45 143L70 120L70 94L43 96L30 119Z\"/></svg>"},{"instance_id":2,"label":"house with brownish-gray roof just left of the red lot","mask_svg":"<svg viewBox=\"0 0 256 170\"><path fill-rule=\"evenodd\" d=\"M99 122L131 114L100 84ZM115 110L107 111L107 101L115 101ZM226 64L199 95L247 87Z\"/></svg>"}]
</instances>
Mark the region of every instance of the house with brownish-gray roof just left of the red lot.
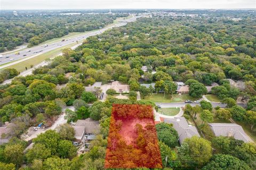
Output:
<instances>
[{"instance_id":1,"label":"house with brownish-gray roof just left of the red lot","mask_svg":"<svg viewBox=\"0 0 256 170\"><path fill-rule=\"evenodd\" d=\"M79 145L86 141L94 140L95 134L99 133L100 124L99 121L87 118L85 120L77 120L75 126L75 140L74 145Z\"/></svg>"}]
</instances>

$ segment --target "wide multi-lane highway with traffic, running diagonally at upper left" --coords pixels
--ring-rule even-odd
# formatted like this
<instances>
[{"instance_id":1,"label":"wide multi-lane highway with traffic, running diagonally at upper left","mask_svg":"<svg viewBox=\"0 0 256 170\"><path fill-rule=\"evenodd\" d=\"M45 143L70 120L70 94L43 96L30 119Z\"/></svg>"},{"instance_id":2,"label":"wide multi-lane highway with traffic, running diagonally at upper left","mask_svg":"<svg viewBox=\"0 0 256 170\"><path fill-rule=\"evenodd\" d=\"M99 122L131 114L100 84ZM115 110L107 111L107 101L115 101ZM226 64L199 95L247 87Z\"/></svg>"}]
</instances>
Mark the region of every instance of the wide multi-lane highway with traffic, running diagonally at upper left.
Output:
<instances>
[{"instance_id":1,"label":"wide multi-lane highway with traffic, running diagonally at upper left","mask_svg":"<svg viewBox=\"0 0 256 170\"><path fill-rule=\"evenodd\" d=\"M89 33L80 34L80 35L73 36L70 38L63 38L63 39L65 39L64 41L63 41L63 39L60 39L60 41L55 41L53 43L44 44L44 45L40 45L40 46L37 45L37 46L31 47L31 48L26 48L26 50L19 51L19 54L17 54L17 52L13 52L10 54L4 54L0 58L0 64L5 64L5 63L9 63L9 62L11 62L11 63L0 66L0 69L3 69L5 67L9 67L9 66L12 66L13 64L16 64L17 62L19 62L17 60L23 59L20 61L20 62L22 62L22 61L25 61L26 58L31 59L37 55L52 51L52 50L60 48L62 46L66 46L66 45L69 45L72 43L82 41L83 39L86 39L87 37L101 34L104 31L109 30L111 28L124 26L128 22L133 22L137 18L140 18L140 17L143 17L143 15L139 15L139 16L132 15L132 18L119 21L115 25L101 28L99 30L90 31ZM17 61L17 62L13 62L13 61Z\"/></svg>"}]
</instances>

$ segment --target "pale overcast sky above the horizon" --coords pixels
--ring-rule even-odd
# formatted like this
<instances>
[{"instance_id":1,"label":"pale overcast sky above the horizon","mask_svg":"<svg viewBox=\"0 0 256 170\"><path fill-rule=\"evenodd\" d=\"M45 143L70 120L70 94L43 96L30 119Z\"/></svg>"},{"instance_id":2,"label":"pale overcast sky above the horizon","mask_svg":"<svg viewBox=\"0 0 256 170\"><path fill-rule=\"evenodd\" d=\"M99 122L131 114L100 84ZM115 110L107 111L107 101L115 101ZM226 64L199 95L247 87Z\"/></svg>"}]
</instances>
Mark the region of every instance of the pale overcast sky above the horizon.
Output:
<instances>
[{"instance_id":1,"label":"pale overcast sky above the horizon","mask_svg":"<svg viewBox=\"0 0 256 170\"><path fill-rule=\"evenodd\" d=\"M256 9L256 0L0 0L0 10Z\"/></svg>"}]
</instances>

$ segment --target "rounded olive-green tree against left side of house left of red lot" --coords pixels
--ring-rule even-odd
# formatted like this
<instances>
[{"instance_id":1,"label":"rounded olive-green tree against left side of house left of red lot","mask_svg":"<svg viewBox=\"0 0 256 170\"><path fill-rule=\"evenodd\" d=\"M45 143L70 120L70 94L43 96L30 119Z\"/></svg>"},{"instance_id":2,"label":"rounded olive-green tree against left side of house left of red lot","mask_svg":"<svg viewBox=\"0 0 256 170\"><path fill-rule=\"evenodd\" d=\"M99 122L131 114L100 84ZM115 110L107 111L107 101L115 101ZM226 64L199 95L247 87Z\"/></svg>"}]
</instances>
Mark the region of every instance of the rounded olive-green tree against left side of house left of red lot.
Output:
<instances>
[{"instance_id":1,"label":"rounded olive-green tree against left side of house left of red lot","mask_svg":"<svg viewBox=\"0 0 256 170\"><path fill-rule=\"evenodd\" d=\"M57 127L57 132L60 134L60 139L63 140L73 140L75 135L75 130L69 124L62 124Z\"/></svg>"}]
</instances>

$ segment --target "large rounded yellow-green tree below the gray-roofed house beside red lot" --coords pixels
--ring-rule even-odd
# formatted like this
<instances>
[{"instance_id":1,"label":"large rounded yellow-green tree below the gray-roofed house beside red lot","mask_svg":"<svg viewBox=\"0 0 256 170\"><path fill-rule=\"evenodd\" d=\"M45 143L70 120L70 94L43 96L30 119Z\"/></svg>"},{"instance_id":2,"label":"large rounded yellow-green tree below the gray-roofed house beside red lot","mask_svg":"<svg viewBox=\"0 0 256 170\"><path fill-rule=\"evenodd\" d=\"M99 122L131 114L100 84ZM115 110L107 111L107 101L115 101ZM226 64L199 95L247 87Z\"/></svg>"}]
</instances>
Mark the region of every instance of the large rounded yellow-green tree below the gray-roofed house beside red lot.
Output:
<instances>
[{"instance_id":1,"label":"large rounded yellow-green tree below the gray-roofed house beside red lot","mask_svg":"<svg viewBox=\"0 0 256 170\"><path fill-rule=\"evenodd\" d=\"M182 150L183 145L187 145L186 151ZM191 161L195 161L195 164L200 167L207 163L212 157L211 142L197 136L187 138L178 149L178 155L180 156L180 154L182 156L181 161L184 159L184 161L189 161L189 159L191 159Z\"/></svg>"}]
</instances>

